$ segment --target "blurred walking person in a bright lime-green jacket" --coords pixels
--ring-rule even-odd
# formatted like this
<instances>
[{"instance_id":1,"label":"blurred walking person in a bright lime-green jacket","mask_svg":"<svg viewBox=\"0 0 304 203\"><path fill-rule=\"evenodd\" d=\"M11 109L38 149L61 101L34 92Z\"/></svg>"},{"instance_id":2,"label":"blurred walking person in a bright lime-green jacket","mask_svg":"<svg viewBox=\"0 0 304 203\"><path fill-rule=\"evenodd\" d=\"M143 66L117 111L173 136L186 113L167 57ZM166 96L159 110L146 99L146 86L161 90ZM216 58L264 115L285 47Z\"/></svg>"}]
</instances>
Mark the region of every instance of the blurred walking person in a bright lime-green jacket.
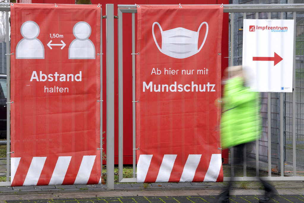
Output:
<instances>
[{"instance_id":1,"label":"blurred walking person in a bright lime-green jacket","mask_svg":"<svg viewBox=\"0 0 304 203\"><path fill-rule=\"evenodd\" d=\"M228 79L229 72L230 78ZM222 148L233 147L236 151L231 160L232 166L235 167L243 163L244 146L261 135L260 104L258 93L246 87L250 75L243 70L242 66L226 68L225 75L221 121ZM229 202L232 181L233 177L224 191L216 198L216 202ZM265 196L259 202L271 202L271 196L277 193L276 189L261 178L260 181L265 187Z\"/></svg>"}]
</instances>

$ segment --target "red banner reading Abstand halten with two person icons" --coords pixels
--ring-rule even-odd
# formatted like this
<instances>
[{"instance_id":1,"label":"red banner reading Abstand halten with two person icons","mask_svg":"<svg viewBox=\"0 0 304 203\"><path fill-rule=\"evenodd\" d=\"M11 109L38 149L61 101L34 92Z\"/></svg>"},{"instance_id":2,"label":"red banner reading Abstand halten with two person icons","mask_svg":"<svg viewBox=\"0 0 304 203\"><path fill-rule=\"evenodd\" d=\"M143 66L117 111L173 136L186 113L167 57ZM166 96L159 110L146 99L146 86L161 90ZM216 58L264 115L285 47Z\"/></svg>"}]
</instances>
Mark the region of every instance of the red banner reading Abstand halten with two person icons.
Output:
<instances>
[{"instance_id":1,"label":"red banner reading Abstand halten with two person icons","mask_svg":"<svg viewBox=\"0 0 304 203\"><path fill-rule=\"evenodd\" d=\"M101 8L10 8L11 185L97 184Z\"/></svg>"}]
</instances>

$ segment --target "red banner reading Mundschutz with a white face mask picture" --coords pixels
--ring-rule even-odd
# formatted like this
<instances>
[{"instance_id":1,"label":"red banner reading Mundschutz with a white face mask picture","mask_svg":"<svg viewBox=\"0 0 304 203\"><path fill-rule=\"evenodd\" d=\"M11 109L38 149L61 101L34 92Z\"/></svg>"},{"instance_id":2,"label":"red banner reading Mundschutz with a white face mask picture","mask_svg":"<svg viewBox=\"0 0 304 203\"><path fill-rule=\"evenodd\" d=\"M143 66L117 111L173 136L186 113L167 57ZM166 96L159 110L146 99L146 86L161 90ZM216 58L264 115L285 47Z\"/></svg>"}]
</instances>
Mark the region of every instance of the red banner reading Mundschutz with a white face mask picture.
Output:
<instances>
[{"instance_id":1,"label":"red banner reading Mundschutz with a white face mask picture","mask_svg":"<svg viewBox=\"0 0 304 203\"><path fill-rule=\"evenodd\" d=\"M222 181L223 8L137 7L137 182Z\"/></svg>"}]
</instances>

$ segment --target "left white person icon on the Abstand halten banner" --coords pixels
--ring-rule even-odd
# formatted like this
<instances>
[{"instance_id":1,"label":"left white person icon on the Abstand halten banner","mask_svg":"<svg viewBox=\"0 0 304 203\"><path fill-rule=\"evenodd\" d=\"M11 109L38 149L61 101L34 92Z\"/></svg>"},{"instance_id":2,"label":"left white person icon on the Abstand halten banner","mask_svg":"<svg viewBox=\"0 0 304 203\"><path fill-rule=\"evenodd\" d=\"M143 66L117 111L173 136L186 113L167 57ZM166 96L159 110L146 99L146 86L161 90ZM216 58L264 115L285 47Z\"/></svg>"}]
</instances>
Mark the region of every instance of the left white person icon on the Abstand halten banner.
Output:
<instances>
[{"instance_id":1,"label":"left white person icon on the Abstand halten banner","mask_svg":"<svg viewBox=\"0 0 304 203\"><path fill-rule=\"evenodd\" d=\"M23 37L16 46L16 58L44 58L44 47L42 42L37 39L40 28L34 21L26 21L20 28Z\"/></svg>"}]
</instances>

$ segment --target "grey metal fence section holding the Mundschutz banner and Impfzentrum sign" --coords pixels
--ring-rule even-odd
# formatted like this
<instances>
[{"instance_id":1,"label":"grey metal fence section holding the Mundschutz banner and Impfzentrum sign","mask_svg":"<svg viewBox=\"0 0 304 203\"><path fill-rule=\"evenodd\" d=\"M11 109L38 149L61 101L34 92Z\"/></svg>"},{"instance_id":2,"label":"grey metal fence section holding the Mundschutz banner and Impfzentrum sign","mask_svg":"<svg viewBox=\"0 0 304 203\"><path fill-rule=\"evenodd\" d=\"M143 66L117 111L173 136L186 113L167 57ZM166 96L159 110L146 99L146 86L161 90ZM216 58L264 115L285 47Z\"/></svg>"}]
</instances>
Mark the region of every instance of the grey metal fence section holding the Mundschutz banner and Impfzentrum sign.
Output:
<instances>
[{"instance_id":1,"label":"grey metal fence section holding the Mundschutz banner and Impfzentrum sign","mask_svg":"<svg viewBox=\"0 0 304 203\"><path fill-rule=\"evenodd\" d=\"M256 14L258 14L259 12L268 12L268 18L271 19L271 12L281 12L281 19L283 19L283 12L293 12L293 19L295 19L296 17L296 12L302 12L304 9L304 4L240 4L240 5L236 5L236 4L228 4L228 5L223 5L224 8L224 12L226 13L230 13L231 16L234 13L239 13L239 12L243 12L245 16L244 18L246 18L246 12L255 12ZM119 21L120 23L118 24L118 35L119 35L119 82L121 82L120 84L122 84L122 73L123 73L123 61L122 61L122 13L132 13L132 15L134 15L134 13L137 12L136 9L136 5L118 5L118 15L119 15ZM256 19L258 19L258 15L256 15ZM132 17L132 26L133 26L133 17ZM230 66L233 66L233 44L234 44L234 36L233 36L233 27L234 27L234 18L231 17L230 19ZM296 32L294 32L296 33ZM134 37L134 33L132 33L132 38ZM133 45L134 46L134 45ZM295 40L294 40L294 47L295 47ZM133 51L134 53L134 51ZM134 58L134 55L132 55ZM237 57L238 58L238 57ZM135 61L133 61L133 67L135 66ZM135 73L135 70L133 69L133 74ZM121 76L121 77L120 77ZM134 79L135 77L133 77ZM120 88L120 87L119 87ZM293 54L293 88L295 88L295 51ZM134 85L133 85L133 89L134 89ZM268 142L268 154L271 154L271 98L274 96L272 95L273 93L267 93L267 111L269 111L267 113L267 137L268 140L270 142ZM268 170L268 177L264 177L265 180L304 180L304 177L299 177L296 176L296 164L293 165L293 176L292 177L284 177L284 156L283 156L283 152L284 152L284 144L283 144L283 139L284 139L284 103L283 103L283 93L279 94L279 105L280 105L280 109L279 109L279 120L280 120L280 126L278 127L279 130L279 134L280 134L280 149L279 149L279 153L281 153L281 156L279 158L279 169L281 169L282 173L281 176L278 177L272 177L271 176L271 170ZM135 101L135 93L133 93L133 101ZM292 101L292 112L295 112L295 91L292 93L292 97L293 97L293 101ZM119 92L119 113L120 115L120 119L119 119L119 143L122 143L122 139L123 139L123 119L122 119L122 98L123 98L123 94L122 91ZM135 106L135 104L133 103L133 106ZM134 108L134 107L133 107ZM295 149L295 115L293 115L292 117L292 123L293 123L293 129L292 129L292 146L293 149ZM135 110L133 109L133 120L135 120ZM133 125L133 142L135 142L135 125ZM260 164L259 164L259 140L257 139L255 141L255 160L257 160L255 162L255 168L256 169L260 169ZM135 145L133 145L133 149L135 149ZM136 150L136 149L135 149ZM134 150L134 151L135 151ZM246 149L245 149L246 150ZM233 148L231 149L231 156L233 156ZM123 150L122 148L119 147L119 157L123 157ZM296 163L296 150L293 150L293 163ZM267 163L268 163L268 169L271 169L271 156L267 157ZM135 159L135 155L133 153L133 159ZM246 159L248 159L248 157L246 155L244 155L244 170L243 170L243 177L235 177L233 180L234 181L241 181L241 180L248 180L248 181L252 181L252 180L258 180L257 177L259 176L259 171L256 170L256 177L247 177L246 173L246 166L247 166L247 162ZM122 173L122 168L123 168L123 163L122 161L119 162L119 171L121 171ZM133 168L134 168L134 164L133 164ZM135 169L133 169L135 171ZM232 167L231 170L231 175L234 176L234 170ZM224 177L224 181L230 180L230 177ZM130 180L127 180L125 178L119 178L119 182L136 182L136 178L131 178Z\"/></svg>"}]
</instances>

